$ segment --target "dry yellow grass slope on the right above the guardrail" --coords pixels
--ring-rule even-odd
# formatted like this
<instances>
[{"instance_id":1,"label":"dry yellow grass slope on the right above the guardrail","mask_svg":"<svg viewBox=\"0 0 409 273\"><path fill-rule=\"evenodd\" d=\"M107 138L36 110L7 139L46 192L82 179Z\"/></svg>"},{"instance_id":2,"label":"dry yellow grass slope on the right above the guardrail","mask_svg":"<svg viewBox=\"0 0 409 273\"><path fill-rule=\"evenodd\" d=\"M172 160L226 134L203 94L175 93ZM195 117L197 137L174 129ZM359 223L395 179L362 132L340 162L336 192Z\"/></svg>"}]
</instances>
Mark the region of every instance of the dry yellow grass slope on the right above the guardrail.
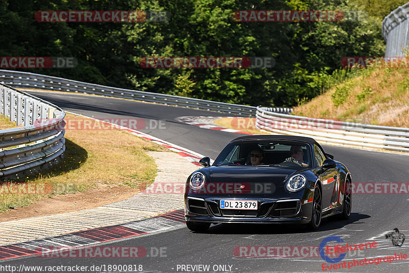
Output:
<instances>
[{"instance_id":1,"label":"dry yellow grass slope on the right above the guardrail","mask_svg":"<svg viewBox=\"0 0 409 273\"><path fill-rule=\"evenodd\" d=\"M336 88L348 93L338 106L332 98ZM369 69L363 75L295 107L292 115L409 127L409 70Z\"/></svg>"}]
</instances>

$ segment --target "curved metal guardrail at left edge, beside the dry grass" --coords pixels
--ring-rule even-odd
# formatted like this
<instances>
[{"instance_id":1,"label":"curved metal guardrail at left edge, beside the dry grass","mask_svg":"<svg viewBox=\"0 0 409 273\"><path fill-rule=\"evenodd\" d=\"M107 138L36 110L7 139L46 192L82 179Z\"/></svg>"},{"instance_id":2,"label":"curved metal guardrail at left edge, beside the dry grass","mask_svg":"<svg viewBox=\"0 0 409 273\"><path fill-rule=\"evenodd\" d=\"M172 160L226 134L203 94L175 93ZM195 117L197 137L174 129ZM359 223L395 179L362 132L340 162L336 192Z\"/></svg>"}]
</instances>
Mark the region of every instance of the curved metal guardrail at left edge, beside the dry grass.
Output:
<instances>
[{"instance_id":1,"label":"curved metal guardrail at left edge, beside the dry grass","mask_svg":"<svg viewBox=\"0 0 409 273\"><path fill-rule=\"evenodd\" d=\"M5 84L0 84L0 98L0 113L22 126L0 130L0 179L15 179L58 162L65 151L65 112Z\"/></svg>"}]
</instances>

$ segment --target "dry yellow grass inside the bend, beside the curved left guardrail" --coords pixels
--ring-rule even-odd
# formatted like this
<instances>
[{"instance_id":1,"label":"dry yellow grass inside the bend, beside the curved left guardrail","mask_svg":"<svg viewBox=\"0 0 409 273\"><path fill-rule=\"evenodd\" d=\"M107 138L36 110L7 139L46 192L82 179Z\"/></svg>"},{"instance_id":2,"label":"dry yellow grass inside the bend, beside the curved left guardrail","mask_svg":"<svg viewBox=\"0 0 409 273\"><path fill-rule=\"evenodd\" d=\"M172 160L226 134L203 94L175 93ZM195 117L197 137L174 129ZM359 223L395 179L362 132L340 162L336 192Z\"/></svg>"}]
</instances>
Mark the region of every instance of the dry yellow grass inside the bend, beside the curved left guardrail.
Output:
<instances>
[{"instance_id":1,"label":"dry yellow grass inside the bend, beside the curved left guardrail","mask_svg":"<svg viewBox=\"0 0 409 273\"><path fill-rule=\"evenodd\" d=\"M66 118L85 119L70 114L67 114ZM28 206L44 197L90 188L145 188L153 182L156 175L156 165L145 151L166 150L160 145L118 129L68 129L65 131L65 139L65 155L58 166L36 177L18 177L14 180L17 184L51 184L52 193L0 194L0 212L17 206Z\"/></svg>"}]
</instances>

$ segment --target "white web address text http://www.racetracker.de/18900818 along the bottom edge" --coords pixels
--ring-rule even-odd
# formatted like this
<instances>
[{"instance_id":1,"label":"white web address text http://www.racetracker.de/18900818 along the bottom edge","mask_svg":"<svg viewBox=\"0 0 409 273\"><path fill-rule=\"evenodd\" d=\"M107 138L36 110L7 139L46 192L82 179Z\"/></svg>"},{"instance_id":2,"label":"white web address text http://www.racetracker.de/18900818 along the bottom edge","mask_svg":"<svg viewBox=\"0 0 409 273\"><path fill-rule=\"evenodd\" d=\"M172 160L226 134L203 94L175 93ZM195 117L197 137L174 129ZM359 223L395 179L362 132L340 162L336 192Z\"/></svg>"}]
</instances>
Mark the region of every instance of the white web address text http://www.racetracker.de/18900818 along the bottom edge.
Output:
<instances>
[{"instance_id":1,"label":"white web address text http://www.racetracker.de/18900818 along the bottom edge","mask_svg":"<svg viewBox=\"0 0 409 273\"><path fill-rule=\"evenodd\" d=\"M142 264L99 264L99 265L54 265L54 266L40 266L40 265L1 265L0 272L106 272L106 271L119 271L119 272L140 272L143 271Z\"/></svg>"}]
</instances>

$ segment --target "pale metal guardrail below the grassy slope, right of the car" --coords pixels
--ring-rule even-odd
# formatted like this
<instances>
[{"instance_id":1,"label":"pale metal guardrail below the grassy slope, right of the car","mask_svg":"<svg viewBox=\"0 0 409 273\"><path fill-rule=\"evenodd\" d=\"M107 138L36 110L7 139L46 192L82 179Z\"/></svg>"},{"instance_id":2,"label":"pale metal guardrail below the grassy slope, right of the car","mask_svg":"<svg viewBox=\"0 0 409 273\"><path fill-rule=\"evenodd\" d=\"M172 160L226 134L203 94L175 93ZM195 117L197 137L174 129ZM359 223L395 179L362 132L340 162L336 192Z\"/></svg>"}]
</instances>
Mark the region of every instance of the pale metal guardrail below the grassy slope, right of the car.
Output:
<instances>
[{"instance_id":1,"label":"pale metal guardrail below the grassy slope, right of the car","mask_svg":"<svg viewBox=\"0 0 409 273\"><path fill-rule=\"evenodd\" d=\"M312 119L257 107L256 127L277 134L314 138L322 144L409 152L409 128Z\"/></svg>"}]
</instances>

